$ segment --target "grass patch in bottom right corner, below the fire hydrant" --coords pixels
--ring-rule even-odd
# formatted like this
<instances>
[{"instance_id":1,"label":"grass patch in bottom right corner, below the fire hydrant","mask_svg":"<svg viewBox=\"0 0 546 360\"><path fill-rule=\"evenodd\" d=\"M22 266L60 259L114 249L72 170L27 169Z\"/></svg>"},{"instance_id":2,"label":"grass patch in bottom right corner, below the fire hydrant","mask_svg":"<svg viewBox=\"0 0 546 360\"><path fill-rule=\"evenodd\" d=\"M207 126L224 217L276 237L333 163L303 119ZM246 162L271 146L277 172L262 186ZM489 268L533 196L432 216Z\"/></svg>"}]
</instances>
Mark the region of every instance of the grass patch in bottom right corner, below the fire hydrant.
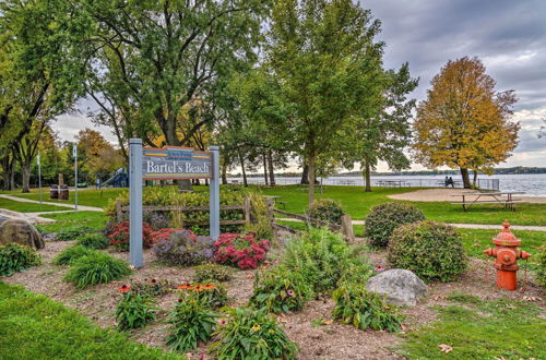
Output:
<instances>
[{"instance_id":1,"label":"grass patch in bottom right corner, below the fire hydrant","mask_svg":"<svg viewBox=\"0 0 546 360\"><path fill-rule=\"evenodd\" d=\"M533 303L486 301L453 292L436 307L439 321L404 335L410 359L546 359L546 320ZM452 348L441 352L440 344Z\"/></svg>"}]
</instances>

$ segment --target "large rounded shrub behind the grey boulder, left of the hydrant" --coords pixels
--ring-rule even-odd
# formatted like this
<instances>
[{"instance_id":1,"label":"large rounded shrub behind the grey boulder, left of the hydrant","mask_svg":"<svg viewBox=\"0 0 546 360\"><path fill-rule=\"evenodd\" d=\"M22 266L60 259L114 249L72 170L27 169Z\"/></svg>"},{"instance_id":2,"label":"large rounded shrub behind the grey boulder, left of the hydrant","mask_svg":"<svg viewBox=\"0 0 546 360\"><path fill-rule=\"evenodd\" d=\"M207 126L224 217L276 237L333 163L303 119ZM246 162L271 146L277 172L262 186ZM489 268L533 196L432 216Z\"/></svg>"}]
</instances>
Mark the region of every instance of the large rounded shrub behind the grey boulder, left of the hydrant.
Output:
<instances>
[{"instance_id":1,"label":"large rounded shrub behind the grey boulder, left of the hydrant","mask_svg":"<svg viewBox=\"0 0 546 360\"><path fill-rule=\"evenodd\" d=\"M467 263L456 229L430 220L394 230L388 259L393 267L412 271L423 280L440 281L455 279Z\"/></svg>"}]
</instances>

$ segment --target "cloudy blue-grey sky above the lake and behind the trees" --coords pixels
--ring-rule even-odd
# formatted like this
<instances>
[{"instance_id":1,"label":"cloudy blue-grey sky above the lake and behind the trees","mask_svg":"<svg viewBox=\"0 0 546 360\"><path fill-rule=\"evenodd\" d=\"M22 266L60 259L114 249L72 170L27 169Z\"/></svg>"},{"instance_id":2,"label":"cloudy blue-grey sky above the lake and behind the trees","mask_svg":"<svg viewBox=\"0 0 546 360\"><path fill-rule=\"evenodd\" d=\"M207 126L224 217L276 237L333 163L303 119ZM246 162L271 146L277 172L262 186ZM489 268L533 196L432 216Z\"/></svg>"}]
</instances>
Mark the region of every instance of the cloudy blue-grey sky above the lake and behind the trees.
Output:
<instances>
[{"instance_id":1,"label":"cloudy blue-grey sky above the lake and behind the trees","mask_svg":"<svg viewBox=\"0 0 546 360\"><path fill-rule=\"evenodd\" d=\"M419 86L412 94L426 97L430 81L448 60L478 57L498 91L514 89L519 98L513 121L520 121L520 142L499 167L546 167L546 137L538 139L546 118L546 0L360 0L381 20L385 68L410 63ZM115 142L108 128L96 128L86 112L59 117L56 130L72 141L79 130L94 128ZM423 169L418 164L412 170ZM288 170L297 170L290 167ZM385 164L378 166L387 171Z\"/></svg>"}]
</instances>

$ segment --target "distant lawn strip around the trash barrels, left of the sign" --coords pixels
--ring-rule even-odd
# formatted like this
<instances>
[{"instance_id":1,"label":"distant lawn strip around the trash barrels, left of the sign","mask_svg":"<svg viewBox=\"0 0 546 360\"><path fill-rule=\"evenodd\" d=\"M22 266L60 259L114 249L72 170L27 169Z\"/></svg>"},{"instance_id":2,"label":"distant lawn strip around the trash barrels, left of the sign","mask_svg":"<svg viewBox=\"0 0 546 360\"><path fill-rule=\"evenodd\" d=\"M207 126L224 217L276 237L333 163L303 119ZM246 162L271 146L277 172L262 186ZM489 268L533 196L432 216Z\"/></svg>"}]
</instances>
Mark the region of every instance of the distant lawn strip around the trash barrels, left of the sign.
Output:
<instances>
[{"instance_id":1,"label":"distant lawn strip around the trash barrels, left of the sign","mask_svg":"<svg viewBox=\"0 0 546 360\"><path fill-rule=\"evenodd\" d=\"M47 188L49 191L49 188ZM116 199L119 194L122 192L127 192L128 189L103 189L103 190L96 190L96 189L79 189L78 190L78 204L79 205L85 205L85 206L95 206L95 207L105 207L108 205L108 202L110 200ZM32 189L29 193L21 193L21 192L11 192L10 195L17 196L17 197L24 197L24 199L32 199L32 200L39 200L39 193L37 189ZM62 200L57 200L57 199L49 199L49 192L43 194L44 201L47 201L49 203L63 203L63 204L73 204L74 203L74 191L70 189L70 199L67 201Z\"/></svg>"}]
</instances>

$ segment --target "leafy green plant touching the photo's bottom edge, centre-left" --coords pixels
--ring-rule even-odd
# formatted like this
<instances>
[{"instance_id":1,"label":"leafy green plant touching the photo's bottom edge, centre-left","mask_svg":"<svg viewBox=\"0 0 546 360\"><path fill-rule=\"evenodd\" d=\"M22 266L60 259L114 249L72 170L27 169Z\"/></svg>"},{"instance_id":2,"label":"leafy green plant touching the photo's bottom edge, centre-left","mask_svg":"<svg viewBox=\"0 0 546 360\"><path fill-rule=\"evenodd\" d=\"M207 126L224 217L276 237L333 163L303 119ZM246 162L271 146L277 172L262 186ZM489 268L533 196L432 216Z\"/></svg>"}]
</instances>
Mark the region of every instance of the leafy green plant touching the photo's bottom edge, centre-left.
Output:
<instances>
[{"instance_id":1,"label":"leafy green plant touching the photo's bottom edge, centre-left","mask_svg":"<svg viewBox=\"0 0 546 360\"><path fill-rule=\"evenodd\" d=\"M298 348L265 311L233 309L214 333L211 350L221 360L295 359Z\"/></svg>"}]
</instances>

